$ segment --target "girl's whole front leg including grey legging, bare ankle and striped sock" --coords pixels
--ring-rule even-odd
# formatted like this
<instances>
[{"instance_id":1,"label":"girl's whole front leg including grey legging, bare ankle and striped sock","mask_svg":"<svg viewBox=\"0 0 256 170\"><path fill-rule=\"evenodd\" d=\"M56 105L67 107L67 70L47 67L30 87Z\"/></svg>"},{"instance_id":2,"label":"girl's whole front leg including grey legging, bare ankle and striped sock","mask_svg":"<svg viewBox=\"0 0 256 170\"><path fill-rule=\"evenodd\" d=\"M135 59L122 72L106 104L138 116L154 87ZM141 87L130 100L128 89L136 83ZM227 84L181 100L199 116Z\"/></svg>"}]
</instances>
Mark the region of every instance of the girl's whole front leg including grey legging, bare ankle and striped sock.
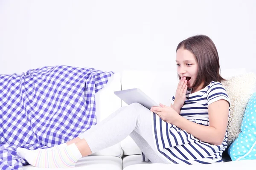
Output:
<instances>
[{"instance_id":1,"label":"girl's whole front leg including grey legging, bare ankle and striped sock","mask_svg":"<svg viewBox=\"0 0 256 170\"><path fill-rule=\"evenodd\" d=\"M151 111L138 103L129 105L116 114L116 116L113 116L112 119L97 127L97 130L88 130L87 133L84 133L84 138L79 142L50 153L49 155L52 155L53 159L39 159L47 158L45 153L39 152L29 154L32 157L30 159L31 163L29 163L40 167L45 167L45 164L47 166L50 165L48 167L74 167L76 161L82 156L90 155L122 141L133 130L142 136L149 146L154 147L151 130ZM20 153L26 159L28 154L24 154L21 151ZM28 159L26 160L28 161ZM62 161L58 162L55 160Z\"/></svg>"}]
</instances>

